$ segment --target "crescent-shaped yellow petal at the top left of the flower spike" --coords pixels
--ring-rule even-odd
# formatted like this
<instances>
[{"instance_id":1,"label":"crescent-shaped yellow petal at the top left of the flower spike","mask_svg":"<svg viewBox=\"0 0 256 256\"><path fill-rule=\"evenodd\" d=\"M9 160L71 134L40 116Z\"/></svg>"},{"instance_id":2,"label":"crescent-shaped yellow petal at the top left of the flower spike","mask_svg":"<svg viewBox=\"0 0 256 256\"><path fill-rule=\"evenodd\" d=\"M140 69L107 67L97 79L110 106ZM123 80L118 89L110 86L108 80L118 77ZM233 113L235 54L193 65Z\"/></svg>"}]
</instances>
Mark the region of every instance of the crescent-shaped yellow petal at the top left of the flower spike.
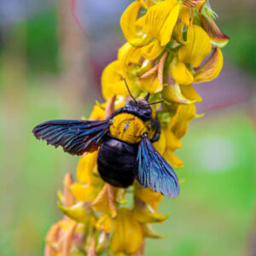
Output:
<instances>
[{"instance_id":1,"label":"crescent-shaped yellow petal at the top left of the flower spike","mask_svg":"<svg viewBox=\"0 0 256 256\"><path fill-rule=\"evenodd\" d=\"M142 28L136 25L137 16L142 8L138 1L131 3L121 16L120 26L127 41L136 47L142 47L153 39L143 33Z\"/></svg>"}]
</instances>

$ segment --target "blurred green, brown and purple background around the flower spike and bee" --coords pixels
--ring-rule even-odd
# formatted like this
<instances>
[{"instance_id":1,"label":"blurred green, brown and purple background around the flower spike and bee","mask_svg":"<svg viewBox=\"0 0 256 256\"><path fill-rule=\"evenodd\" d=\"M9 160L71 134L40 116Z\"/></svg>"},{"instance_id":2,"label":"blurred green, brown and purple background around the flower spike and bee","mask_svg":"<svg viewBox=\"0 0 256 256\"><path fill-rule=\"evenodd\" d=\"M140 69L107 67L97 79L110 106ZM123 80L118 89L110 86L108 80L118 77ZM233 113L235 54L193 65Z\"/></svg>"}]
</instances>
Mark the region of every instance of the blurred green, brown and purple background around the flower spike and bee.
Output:
<instances>
[{"instance_id":1,"label":"blurred green, brown and purple background around the flower spike and bee","mask_svg":"<svg viewBox=\"0 0 256 256\"><path fill-rule=\"evenodd\" d=\"M130 1L5 1L0 8L0 255L42 255L61 218L56 190L78 157L46 147L32 128L48 119L88 116L102 100L100 76L125 42L119 16ZM87 2L87 3L86 3ZM108 2L108 3L107 3ZM177 155L185 182L155 225L163 240L145 255L256 255L256 3L212 1L230 36L224 71L196 85L204 101ZM238 104L239 103L239 104ZM229 108L224 108L229 106ZM255 241L255 242L254 242Z\"/></svg>"}]
</instances>

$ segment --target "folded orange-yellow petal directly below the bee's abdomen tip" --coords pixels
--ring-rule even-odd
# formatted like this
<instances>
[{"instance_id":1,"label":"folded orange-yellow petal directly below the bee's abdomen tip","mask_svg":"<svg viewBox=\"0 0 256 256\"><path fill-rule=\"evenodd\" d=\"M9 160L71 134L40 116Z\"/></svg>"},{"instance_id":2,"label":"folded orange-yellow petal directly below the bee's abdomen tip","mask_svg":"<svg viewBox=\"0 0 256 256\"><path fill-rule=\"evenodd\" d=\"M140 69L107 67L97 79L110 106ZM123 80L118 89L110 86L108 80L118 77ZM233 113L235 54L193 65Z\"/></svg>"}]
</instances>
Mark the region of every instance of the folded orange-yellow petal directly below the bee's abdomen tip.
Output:
<instances>
[{"instance_id":1,"label":"folded orange-yellow petal directly below the bee's abdomen tip","mask_svg":"<svg viewBox=\"0 0 256 256\"><path fill-rule=\"evenodd\" d=\"M96 212L104 212L112 217L116 216L115 207L115 191L113 186L105 183L100 194L96 197L96 200L92 202L92 207Z\"/></svg>"}]
</instances>

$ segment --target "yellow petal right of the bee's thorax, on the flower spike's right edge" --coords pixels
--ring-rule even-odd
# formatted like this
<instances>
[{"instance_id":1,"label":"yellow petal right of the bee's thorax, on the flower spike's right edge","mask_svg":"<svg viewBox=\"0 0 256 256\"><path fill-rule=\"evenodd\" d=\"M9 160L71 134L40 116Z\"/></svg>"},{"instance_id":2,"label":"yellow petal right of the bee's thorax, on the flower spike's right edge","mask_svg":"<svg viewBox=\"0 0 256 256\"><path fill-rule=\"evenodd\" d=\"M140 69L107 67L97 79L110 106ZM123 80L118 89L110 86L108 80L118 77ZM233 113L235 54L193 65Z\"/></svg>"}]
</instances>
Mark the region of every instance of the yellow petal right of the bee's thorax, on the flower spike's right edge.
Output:
<instances>
[{"instance_id":1,"label":"yellow petal right of the bee's thorax, on the flower spike's right edge","mask_svg":"<svg viewBox=\"0 0 256 256\"><path fill-rule=\"evenodd\" d=\"M172 129L173 134L178 139L186 134L190 121L195 118L195 109L195 104L180 104L177 107L177 112L172 117L169 127Z\"/></svg>"}]
</instances>

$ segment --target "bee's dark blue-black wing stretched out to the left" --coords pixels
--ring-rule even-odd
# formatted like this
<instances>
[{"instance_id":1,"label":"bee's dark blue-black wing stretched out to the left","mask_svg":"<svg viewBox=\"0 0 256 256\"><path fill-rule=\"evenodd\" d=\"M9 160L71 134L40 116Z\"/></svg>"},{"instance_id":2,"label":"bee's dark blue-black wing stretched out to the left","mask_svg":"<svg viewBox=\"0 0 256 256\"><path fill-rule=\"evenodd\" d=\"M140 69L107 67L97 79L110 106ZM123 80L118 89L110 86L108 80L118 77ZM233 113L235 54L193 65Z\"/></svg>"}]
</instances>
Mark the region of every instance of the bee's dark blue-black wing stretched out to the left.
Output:
<instances>
[{"instance_id":1,"label":"bee's dark blue-black wing stretched out to the left","mask_svg":"<svg viewBox=\"0 0 256 256\"><path fill-rule=\"evenodd\" d=\"M84 154L100 146L108 128L108 120L51 120L36 126L32 132L38 139L55 148L61 146L69 154Z\"/></svg>"}]
</instances>

